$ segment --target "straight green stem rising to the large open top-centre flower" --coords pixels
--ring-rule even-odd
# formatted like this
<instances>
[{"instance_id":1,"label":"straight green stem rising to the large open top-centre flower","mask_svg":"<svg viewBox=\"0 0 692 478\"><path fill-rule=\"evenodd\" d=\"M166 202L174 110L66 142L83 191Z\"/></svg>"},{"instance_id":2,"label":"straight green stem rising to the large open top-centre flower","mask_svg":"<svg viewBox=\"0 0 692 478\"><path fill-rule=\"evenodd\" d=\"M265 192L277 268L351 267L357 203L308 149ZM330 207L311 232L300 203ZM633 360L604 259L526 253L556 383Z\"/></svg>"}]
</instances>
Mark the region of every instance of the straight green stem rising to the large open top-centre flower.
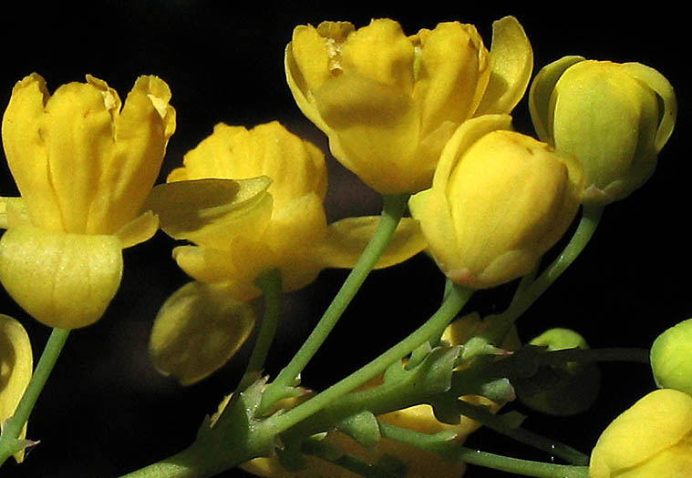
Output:
<instances>
[{"instance_id":1,"label":"straight green stem rising to the large open top-centre flower","mask_svg":"<svg viewBox=\"0 0 692 478\"><path fill-rule=\"evenodd\" d=\"M380 216L377 230L367 244L360 259L356 262L353 270L348 274L341 289L336 293L322 319L315 326L315 330L308 336L305 343L296 352L294 358L279 372L276 379L268 386L264 392L260 412L266 412L278 400L286 396L286 391L293 387L296 378L305 369L307 363L315 356L316 351L325 341L329 332L334 329L336 322L346 310L346 307L366 280L367 275L375 267L377 259L387 249L389 239L394 235L398 223L406 210L408 204L408 194L397 196L383 196L384 205Z\"/></svg>"}]
</instances>

